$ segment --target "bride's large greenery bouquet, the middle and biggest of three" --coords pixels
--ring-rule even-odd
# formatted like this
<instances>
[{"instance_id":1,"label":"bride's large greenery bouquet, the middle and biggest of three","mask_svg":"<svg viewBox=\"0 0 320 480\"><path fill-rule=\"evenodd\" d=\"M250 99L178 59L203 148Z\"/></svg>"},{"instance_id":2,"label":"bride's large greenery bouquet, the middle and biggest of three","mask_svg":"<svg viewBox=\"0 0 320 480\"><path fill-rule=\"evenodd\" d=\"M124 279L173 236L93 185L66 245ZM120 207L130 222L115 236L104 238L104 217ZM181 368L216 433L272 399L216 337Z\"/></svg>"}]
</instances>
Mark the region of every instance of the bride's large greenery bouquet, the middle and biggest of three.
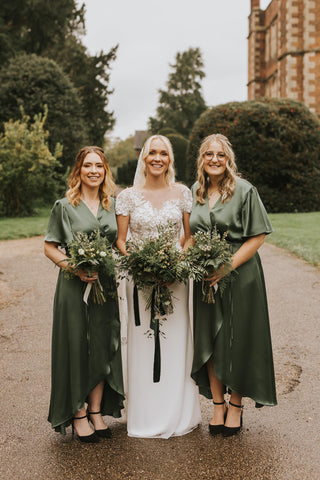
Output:
<instances>
[{"instance_id":1,"label":"bride's large greenery bouquet, the middle and biggest of three","mask_svg":"<svg viewBox=\"0 0 320 480\"><path fill-rule=\"evenodd\" d=\"M128 240L128 255L119 259L119 269L129 274L134 284L146 296L146 310L165 320L173 312L169 284L186 282L188 272L180 265L181 251L176 245L174 224L159 225L157 233L144 239Z\"/></svg>"}]
</instances>

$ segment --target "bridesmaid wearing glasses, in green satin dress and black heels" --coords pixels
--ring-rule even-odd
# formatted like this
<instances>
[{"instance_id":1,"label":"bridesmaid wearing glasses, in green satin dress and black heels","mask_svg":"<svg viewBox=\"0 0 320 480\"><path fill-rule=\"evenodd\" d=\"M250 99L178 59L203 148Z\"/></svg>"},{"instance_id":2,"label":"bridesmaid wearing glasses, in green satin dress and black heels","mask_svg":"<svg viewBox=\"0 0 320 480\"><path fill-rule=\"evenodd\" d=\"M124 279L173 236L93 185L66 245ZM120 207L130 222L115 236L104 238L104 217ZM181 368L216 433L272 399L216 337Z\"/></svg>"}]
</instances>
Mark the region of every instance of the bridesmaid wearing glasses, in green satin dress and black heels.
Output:
<instances>
[{"instance_id":1,"label":"bridesmaid wearing glasses, in green satin dress and black heels","mask_svg":"<svg viewBox=\"0 0 320 480\"><path fill-rule=\"evenodd\" d=\"M192 377L200 393L213 398L212 435L231 436L242 426L242 397L256 407L276 405L273 357L263 270L257 252L272 232L257 190L237 174L229 140L210 135L200 146L198 180L192 187L193 233L217 226L232 251L237 275L215 304L202 302L194 287L194 361ZM208 281L219 285L224 269ZM224 394L231 393L229 406Z\"/></svg>"}]
</instances>

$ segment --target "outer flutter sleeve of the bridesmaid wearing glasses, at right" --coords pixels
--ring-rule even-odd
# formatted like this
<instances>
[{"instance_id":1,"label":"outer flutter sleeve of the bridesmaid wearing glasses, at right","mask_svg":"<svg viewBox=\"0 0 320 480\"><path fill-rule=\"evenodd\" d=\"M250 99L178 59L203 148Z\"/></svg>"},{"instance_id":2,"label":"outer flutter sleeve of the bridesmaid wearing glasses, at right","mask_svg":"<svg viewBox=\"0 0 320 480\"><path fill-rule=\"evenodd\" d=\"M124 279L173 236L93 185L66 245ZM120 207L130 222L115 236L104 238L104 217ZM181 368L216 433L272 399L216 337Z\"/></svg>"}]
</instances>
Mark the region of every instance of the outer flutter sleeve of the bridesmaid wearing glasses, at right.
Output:
<instances>
[{"instance_id":1,"label":"outer flutter sleeve of the bridesmaid wearing glasses, at right","mask_svg":"<svg viewBox=\"0 0 320 480\"><path fill-rule=\"evenodd\" d=\"M273 232L266 209L261 201L258 191L252 187L242 208L243 236L254 237Z\"/></svg>"}]
</instances>

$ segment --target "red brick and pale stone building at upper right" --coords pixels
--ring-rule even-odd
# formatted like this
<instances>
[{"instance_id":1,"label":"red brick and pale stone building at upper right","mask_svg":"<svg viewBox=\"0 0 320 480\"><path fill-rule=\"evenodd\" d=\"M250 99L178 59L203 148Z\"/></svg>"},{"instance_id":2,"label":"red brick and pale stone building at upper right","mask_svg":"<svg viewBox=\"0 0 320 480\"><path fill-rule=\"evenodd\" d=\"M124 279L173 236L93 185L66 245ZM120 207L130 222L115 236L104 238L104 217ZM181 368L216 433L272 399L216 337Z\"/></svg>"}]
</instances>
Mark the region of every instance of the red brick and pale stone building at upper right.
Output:
<instances>
[{"instance_id":1,"label":"red brick and pale stone building at upper right","mask_svg":"<svg viewBox=\"0 0 320 480\"><path fill-rule=\"evenodd\" d=\"M248 99L291 98L320 115L320 0L251 0Z\"/></svg>"}]
</instances>

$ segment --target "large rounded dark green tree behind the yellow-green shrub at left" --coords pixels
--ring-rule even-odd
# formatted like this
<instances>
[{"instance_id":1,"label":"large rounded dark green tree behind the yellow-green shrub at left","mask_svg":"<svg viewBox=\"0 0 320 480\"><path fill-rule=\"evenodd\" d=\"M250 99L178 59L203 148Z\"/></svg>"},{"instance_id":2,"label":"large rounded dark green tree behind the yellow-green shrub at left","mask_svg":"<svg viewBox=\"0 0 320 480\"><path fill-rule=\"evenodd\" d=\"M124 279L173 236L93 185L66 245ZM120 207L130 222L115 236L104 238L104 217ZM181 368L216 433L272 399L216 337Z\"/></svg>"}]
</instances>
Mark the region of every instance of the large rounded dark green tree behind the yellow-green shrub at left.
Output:
<instances>
[{"instance_id":1,"label":"large rounded dark green tree behind the yellow-green shrub at left","mask_svg":"<svg viewBox=\"0 0 320 480\"><path fill-rule=\"evenodd\" d=\"M64 167L71 164L88 133L77 91L61 68L48 58L21 54L0 70L0 122L31 118L48 106L49 147L63 145Z\"/></svg>"}]
</instances>

